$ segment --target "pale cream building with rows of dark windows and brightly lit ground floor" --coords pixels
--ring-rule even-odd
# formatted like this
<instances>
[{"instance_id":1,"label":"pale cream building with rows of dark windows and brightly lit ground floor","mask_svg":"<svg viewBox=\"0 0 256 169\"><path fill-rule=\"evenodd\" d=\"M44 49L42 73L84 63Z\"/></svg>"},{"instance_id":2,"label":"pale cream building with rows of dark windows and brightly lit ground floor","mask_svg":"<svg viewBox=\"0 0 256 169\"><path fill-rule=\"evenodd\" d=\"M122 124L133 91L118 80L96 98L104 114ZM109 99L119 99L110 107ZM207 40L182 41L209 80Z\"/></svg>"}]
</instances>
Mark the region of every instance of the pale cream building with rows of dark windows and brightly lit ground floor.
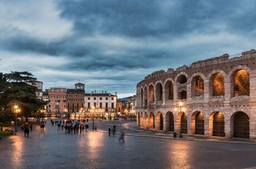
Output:
<instances>
[{"instance_id":1,"label":"pale cream building with rows of dark windows and brightly lit ground floor","mask_svg":"<svg viewBox=\"0 0 256 169\"><path fill-rule=\"evenodd\" d=\"M90 116L115 116L116 112L116 95L110 93L96 93L92 91L85 94L85 114Z\"/></svg>"}]
</instances>

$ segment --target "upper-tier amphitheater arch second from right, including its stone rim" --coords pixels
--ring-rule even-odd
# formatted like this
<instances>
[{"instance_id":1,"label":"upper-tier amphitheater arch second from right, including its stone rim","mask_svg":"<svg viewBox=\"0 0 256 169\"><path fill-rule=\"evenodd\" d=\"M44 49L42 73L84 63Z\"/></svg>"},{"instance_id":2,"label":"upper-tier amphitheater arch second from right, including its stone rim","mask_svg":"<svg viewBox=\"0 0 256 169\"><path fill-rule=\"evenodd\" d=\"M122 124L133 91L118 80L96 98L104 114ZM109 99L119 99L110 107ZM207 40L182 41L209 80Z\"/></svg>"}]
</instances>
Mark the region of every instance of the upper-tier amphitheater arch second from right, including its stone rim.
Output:
<instances>
[{"instance_id":1,"label":"upper-tier amphitheater arch second from right, including its stone rim","mask_svg":"<svg viewBox=\"0 0 256 169\"><path fill-rule=\"evenodd\" d=\"M209 79L209 96L225 95L225 74L222 70L214 70L208 75Z\"/></svg>"}]
</instances>

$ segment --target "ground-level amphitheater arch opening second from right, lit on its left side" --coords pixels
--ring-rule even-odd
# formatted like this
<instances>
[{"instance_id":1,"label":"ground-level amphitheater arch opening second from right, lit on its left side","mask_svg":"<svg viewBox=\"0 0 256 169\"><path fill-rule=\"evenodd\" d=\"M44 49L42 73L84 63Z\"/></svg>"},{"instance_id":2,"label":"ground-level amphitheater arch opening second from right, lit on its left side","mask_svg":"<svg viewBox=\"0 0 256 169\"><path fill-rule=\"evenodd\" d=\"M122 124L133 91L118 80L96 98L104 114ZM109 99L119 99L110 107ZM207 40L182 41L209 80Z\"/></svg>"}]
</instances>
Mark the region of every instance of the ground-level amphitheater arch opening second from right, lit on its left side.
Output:
<instances>
[{"instance_id":1,"label":"ground-level amphitheater arch opening second from right, lit on its left side","mask_svg":"<svg viewBox=\"0 0 256 169\"><path fill-rule=\"evenodd\" d=\"M225 121L221 112L216 111L209 118L210 136L225 137Z\"/></svg>"}]
</instances>

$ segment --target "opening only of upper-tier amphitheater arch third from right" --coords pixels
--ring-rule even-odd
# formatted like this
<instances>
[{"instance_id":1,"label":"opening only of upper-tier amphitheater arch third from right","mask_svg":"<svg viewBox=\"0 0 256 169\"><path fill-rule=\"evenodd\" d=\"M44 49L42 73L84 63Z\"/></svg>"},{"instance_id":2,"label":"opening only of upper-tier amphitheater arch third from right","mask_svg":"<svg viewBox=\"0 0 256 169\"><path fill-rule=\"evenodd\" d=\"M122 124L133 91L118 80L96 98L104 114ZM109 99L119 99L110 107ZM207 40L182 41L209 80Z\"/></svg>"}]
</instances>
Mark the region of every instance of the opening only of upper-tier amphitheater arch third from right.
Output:
<instances>
[{"instance_id":1,"label":"opening only of upper-tier amphitheater arch third from right","mask_svg":"<svg viewBox=\"0 0 256 169\"><path fill-rule=\"evenodd\" d=\"M191 96L204 96L204 80L199 75L191 80Z\"/></svg>"}]
</instances>

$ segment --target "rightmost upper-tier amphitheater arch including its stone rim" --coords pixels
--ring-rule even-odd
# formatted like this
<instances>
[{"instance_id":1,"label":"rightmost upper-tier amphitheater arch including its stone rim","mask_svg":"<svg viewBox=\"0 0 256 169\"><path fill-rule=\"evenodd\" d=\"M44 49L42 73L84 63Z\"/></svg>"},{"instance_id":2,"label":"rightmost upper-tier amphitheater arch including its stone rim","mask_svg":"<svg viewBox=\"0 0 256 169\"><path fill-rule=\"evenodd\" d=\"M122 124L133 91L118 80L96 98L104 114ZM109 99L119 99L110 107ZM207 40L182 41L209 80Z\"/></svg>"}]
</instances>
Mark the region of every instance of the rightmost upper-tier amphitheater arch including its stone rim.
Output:
<instances>
[{"instance_id":1,"label":"rightmost upper-tier amphitheater arch including its stone rim","mask_svg":"<svg viewBox=\"0 0 256 169\"><path fill-rule=\"evenodd\" d=\"M229 72L231 97L250 95L249 71L247 66L239 65Z\"/></svg>"}]
</instances>

